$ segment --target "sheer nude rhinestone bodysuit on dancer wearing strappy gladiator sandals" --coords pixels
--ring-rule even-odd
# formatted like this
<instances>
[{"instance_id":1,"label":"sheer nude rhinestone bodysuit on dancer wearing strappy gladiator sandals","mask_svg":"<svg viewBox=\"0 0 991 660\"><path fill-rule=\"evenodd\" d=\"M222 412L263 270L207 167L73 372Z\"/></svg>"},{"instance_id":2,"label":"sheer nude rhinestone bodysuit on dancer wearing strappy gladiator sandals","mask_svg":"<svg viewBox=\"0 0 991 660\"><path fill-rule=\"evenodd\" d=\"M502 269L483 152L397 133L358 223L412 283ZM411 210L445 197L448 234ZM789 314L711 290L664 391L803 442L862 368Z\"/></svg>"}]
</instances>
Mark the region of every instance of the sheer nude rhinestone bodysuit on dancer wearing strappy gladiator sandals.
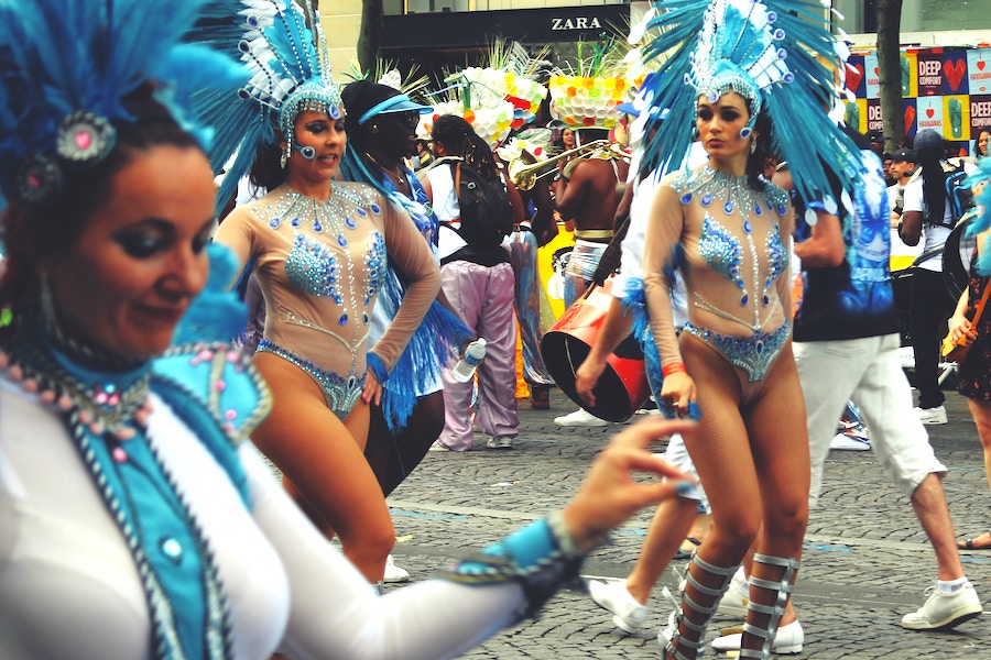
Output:
<instances>
[{"instance_id":1,"label":"sheer nude rhinestone bodysuit on dancer wearing strappy gladiator sandals","mask_svg":"<svg viewBox=\"0 0 991 660\"><path fill-rule=\"evenodd\" d=\"M662 364L682 360L671 317L672 268L688 292L685 330L749 381L761 381L788 338L792 207L772 184L708 165L667 176L658 187L644 250L644 293Z\"/></svg>"}]
</instances>

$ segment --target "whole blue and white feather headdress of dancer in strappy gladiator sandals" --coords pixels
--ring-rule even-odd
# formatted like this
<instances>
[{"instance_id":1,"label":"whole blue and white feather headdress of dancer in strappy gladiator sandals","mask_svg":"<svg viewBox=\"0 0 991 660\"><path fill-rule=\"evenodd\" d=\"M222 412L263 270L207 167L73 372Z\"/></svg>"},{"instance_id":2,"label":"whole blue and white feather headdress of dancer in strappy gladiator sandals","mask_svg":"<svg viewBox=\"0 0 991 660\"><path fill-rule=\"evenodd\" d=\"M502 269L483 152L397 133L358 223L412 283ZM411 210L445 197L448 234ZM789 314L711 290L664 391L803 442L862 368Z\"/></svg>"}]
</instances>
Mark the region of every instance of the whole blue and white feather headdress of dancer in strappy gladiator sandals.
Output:
<instances>
[{"instance_id":1,"label":"whole blue and white feather headdress of dancer in strappy gladiator sandals","mask_svg":"<svg viewBox=\"0 0 991 660\"><path fill-rule=\"evenodd\" d=\"M766 113L772 152L788 162L804 198L828 196L827 172L849 189L860 169L858 150L827 114L843 47L826 29L821 2L663 0L654 8L650 26L658 32L644 56L665 62L649 97L652 107L682 119L664 122L646 141L646 170L683 167L698 98L736 91L751 113L741 136Z\"/></svg>"}]
</instances>

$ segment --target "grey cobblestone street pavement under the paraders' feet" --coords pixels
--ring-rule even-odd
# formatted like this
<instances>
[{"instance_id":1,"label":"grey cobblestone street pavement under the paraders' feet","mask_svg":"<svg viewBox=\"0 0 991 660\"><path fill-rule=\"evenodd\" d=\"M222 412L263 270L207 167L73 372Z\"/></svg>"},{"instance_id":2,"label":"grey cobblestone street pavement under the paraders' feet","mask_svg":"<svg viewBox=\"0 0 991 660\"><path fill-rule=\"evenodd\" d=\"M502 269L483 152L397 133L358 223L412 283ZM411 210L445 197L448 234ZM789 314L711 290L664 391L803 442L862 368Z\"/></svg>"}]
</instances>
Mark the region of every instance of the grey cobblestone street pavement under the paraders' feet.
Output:
<instances>
[{"instance_id":1,"label":"grey cobblestone street pavement under the paraders' feet","mask_svg":"<svg viewBox=\"0 0 991 660\"><path fill-rule=\"evenodd\" d=\"M947 393L950 421L928 427L937 455L949 468L945 488L958 536L989 526L991 494L980 442L966 400ZM400 542L396 563L414 579L483 547L529 520L562 506L591 459L620 425L570 429L554 417L575 406L552 392L552 409L520 402L521 436L512 451L431 452L389 504ZM596 550L585 576L620 578L636 559L650 512L618 530ZM991 551L963 553L968 576L991 603ZM683 570L686 562L674 562ZM925 600L936 562L905 497L894 490L871 452L830 452L820 506L812 514L795 605L805 650L795 658L910 659L991 657L991 614L951 632L904 630L899 620ZM657 658L656 631L672 605L661 595L677 576L671 569L651 601L643 635L624 635L588 597L578 581L555 596L537 620L503 631L465 656L507 658ZM395 587L391 587L395 588ZM458 622L450 622L457 626ZM732 619L714 622L709 638ZM709 654L708 657L712 657Z\"/></svg>"}]
</instances>

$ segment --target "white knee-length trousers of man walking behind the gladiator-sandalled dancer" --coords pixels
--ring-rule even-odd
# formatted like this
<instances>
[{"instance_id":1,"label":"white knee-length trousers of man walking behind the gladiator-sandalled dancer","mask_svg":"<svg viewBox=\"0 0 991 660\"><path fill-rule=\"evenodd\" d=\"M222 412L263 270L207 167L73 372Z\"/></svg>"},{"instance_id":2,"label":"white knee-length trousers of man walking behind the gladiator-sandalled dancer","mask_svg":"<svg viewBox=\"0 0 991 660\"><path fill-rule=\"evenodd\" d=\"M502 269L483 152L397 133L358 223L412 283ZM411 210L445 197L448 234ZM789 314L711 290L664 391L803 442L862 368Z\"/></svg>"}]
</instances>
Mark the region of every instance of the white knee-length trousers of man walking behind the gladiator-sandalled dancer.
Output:
<instances>
[{"instance_id":1,"label":"white knee-length trousers of man walking behind the gladiator-sandalled dancer","mask_svg":"<svg viewBox=\"0 0 991 660\"><path fill-rule=\"evenodd\" d=\"M860 408L871 448L906 497L929 474L946 473L913 410L912 388L896 358L899 343L897 334L794 343L808 415L809 506L819 501L823 465L848 398Z\"/></svg>"}]
</instances>

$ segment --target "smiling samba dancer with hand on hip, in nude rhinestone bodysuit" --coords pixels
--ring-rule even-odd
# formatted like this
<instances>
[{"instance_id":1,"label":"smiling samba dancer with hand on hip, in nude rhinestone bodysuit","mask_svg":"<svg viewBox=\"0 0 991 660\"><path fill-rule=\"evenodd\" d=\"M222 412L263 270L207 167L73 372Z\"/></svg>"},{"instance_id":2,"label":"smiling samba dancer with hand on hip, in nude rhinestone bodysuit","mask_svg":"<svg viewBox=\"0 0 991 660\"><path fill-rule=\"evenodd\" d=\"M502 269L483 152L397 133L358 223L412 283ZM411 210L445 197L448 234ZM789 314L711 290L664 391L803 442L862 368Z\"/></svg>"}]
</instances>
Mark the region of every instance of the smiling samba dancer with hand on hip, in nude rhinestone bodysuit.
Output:
<instances>
[{"instance_id":1,"label":"smiling samba dancer with hand on hip, in nude rhinestone bodysuit","mask_svg":"<svg viewBox=\"0 0 991 660\"><path fill-rule=\"evenodd\" d=\"M429 370L401 356L436 298L439 268L388 195L339 176L345 109L309 3L221 0L208 18L192 38L239 55L251 72L237 94L197 97L219 124L214 167L229 164L218 206L249 166L251 179L270 191L231 212L216 235L251 264L265 300L255 363L275 406L253 440L322 528L336 531L359 570L379 582L394 531L361 455L369 406L382 403L388 385L388 418L405 424L417 380ZM405 290L372 345L377 301L398 284L390 267L403 274ZM427 354L436 362L436 351Z\"/></svg>"}]
</instances>

